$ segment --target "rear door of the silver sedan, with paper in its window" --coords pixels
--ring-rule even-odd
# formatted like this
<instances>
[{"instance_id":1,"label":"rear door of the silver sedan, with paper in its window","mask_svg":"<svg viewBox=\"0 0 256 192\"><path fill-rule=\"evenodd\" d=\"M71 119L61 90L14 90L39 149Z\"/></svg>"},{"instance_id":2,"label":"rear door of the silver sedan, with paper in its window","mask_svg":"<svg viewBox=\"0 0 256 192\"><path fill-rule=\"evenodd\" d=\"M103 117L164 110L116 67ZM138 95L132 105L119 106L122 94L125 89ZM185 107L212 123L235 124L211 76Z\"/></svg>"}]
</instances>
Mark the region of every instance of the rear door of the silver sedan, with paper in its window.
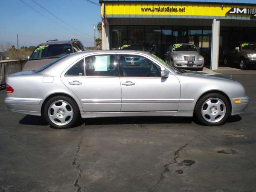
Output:
<instances>
[{"instance_id":1,"label":"rear door of the silver sedan, with paper in its window","mask_svg":"<svg viewBox=\"0 0 256 192\"><path fill-rule=\"evenodd\" d=\"M61 76L85 112L121 110L121 86L115 54L90 55Z\"/></svg>"}]
</instances>

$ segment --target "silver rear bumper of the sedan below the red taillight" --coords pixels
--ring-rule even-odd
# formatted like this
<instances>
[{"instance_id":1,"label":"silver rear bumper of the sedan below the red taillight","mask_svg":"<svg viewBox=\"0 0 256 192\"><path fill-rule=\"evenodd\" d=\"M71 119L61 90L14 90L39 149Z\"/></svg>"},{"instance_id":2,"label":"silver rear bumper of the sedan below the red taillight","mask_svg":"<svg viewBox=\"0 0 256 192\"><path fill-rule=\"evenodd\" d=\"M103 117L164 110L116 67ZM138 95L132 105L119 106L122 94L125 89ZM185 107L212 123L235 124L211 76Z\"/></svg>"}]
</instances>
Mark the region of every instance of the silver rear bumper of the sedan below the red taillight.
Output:
<instances>
[{"instance_id":1,"label":"silver rear bumper of the sedan below the red taillight","mask_svg":"<svg viewBox=\"0 0 256 192\"><path fill-rule=\"evenodd\" d=\"M13 112L41 116L44 99L6 97L4 102Z\"/></svg>"}]
</instances>

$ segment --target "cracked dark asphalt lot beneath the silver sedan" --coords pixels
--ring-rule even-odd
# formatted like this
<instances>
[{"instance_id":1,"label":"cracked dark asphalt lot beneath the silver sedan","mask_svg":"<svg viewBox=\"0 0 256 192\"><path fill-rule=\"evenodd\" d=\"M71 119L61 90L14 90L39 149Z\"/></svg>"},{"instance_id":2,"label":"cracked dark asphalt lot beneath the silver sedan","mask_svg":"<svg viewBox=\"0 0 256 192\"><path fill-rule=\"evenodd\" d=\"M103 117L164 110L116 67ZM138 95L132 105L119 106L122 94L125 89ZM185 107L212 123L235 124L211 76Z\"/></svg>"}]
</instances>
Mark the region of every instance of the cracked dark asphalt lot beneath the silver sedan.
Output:
<instances>
[{"instance_id":1,"label":"cracked dark asphalt lot beneath the silver sedan","mask_svg":"<svg viewBox=\"0 0 256 192\"><path fill-rule=\"evenodd\" d=\"M256 74L232 74L250 104L218 127L129 117L58 130L10 112L0 91L0 191L256 191Z\"/></svg>"}]
</instances>

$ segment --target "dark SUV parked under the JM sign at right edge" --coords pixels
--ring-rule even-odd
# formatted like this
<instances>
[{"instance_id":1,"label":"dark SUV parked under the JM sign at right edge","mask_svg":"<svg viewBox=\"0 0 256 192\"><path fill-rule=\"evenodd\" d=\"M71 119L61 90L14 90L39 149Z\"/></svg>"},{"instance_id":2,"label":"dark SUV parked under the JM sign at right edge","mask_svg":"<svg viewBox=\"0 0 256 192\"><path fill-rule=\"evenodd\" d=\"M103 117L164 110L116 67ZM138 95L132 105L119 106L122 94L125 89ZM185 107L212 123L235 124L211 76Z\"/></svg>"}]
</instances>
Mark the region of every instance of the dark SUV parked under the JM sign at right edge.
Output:
<instances>
[{"instance_id":1,"label":"dark SUV parked under the JM sign at right edge","mask_svg":"<svg viewBox=\"0 0 256 192\"><path fill-rule=\"evenodd\" d=\"M249 66L256 66L256 43L234 42L230 43L223 51L224 65L239 64L241 70Z\"/></svg>"}]
</instances>

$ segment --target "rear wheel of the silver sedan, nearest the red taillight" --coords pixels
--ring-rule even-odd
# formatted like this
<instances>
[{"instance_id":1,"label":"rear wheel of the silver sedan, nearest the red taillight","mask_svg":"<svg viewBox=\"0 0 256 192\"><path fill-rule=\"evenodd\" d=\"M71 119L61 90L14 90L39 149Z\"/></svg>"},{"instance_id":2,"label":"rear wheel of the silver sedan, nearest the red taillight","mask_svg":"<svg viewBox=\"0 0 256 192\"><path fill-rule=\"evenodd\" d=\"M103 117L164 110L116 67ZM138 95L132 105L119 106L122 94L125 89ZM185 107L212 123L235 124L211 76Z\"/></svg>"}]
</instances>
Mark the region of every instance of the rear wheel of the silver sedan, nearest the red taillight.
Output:
<instances>
[{"instance_id":1,"label":"rear wheel of the silver sedan, nearest the red taillight","mask_svg":"<svg viewBox=\"0 0 256 192\"><path fill-rule=\"evenodd\" d=\"M79 108L67 96L54 96L44 105L44 117L51 128L71 128L81 118Z\"/></svg>"}]
</instances>

